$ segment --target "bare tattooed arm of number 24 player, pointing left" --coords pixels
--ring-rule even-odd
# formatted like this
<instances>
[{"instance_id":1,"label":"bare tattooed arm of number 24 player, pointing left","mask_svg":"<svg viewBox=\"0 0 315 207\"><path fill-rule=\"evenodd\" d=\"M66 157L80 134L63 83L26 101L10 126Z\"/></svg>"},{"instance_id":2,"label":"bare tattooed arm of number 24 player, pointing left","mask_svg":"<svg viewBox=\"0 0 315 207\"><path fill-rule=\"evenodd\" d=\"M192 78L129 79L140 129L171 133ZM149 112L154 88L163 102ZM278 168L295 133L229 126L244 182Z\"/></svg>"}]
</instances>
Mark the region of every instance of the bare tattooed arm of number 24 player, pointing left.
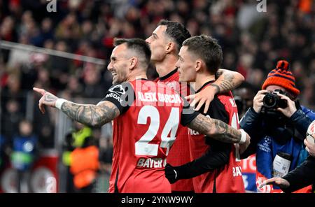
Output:
<instances>
[{"instance_id":1,"label":"bare tattooed arm of number 24 player, pointing left","mask_svg":"<svg viewBox=\"0 0 315 207\"><path fill-rule=\"evenodd\" d=\"M120 115L120 110L110 101L102 101L97 105L78 104L58 99L58 97L50 92L45 92L43 89L34 87L34 91L43 95L38 103L42 113L45 113L44 105L56 107L71 117L71 119L88 126L101 127Z\"/></svg>"}]
</instances>

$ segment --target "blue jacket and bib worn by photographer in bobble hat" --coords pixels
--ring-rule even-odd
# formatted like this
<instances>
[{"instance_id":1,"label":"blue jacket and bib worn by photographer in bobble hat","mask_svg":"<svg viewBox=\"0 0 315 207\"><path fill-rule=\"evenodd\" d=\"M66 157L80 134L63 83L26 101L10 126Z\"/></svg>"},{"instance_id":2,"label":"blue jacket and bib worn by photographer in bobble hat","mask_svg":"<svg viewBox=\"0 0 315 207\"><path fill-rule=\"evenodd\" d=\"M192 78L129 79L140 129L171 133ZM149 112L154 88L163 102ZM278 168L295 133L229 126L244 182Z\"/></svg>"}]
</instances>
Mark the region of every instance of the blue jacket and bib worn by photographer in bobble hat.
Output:
<instances>
[{"instance_id":1,"label":"blue jacket and bib worn by photographer in bobble hat","mask_svg":"<svg viewBox=\"0 0 315 207\"><path fill-rule=\"evenodd\" d=\"M265 120L262 114L249 108L241 119L240 126L251 136L251 144L241 158L256 153L256 173L258 176L272 178L274 157L277 153L284 152L291 157L289 171L292 171L307 157L303 141L312 120L315 120L315 113L304 106L283 125L278 120Z\"/></svg>"}]
</instances>

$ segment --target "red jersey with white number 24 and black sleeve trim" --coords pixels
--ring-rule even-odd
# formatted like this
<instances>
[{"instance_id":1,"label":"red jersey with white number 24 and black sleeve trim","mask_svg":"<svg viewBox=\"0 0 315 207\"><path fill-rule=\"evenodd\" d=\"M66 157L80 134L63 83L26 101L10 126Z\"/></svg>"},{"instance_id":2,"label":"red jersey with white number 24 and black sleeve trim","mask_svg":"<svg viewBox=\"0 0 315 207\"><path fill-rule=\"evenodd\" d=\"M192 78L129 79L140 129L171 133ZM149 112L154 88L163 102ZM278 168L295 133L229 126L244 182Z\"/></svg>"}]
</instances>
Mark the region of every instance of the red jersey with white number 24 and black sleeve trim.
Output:
<instances>
[{"instance_id":1,"label":"red jersey with white number 24 and black sleeve trim","mask_svg":"<svg viewBox=\"0 0 315 207\"><path fill-rule=\"evenodd\" d=\"M127 85L132 96L124 101ZM188 124L197 115L182 114L179 94L148 80L111 87L104 100L120 109L120 116L113 121L109 192L171 192L164 171L169 149L180 123ZM127 102L131 106L122 106Z\"/></svg>"}]
</instances>

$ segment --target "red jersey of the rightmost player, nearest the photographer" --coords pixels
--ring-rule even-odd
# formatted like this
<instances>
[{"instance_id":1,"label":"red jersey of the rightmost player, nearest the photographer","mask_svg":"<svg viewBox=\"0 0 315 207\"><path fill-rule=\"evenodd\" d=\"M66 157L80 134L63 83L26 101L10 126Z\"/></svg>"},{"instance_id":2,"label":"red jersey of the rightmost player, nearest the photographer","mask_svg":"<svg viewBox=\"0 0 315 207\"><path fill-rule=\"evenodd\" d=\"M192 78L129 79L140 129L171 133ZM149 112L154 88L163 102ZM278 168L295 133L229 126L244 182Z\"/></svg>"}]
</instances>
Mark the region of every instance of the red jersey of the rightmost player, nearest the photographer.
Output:
<instances>
[{"instance_id":1,"label":"red jersey of the rightmost player, nearest the photographer","mask_svg":"<svg viewBox=\"0 0 315 207\"><path fill-rule=\"evenodd\" d=\"M204 85L201 90L203 90L205 86L207 85ZM203 110L204 108L202 107L200 111ZM222 115L223 113L225 113L225 115ZM225 116L225 120L223 121L228 121L230 126L237 129L239 128L237 105L235 104L231 92L218 94L211 102L211 106L206 115L220 120L222 120L222 116ZM190 156L192 159L202 157L202 155L211 148L211 145L206 143L206 137L203 134L189 129L189 136ZM245 192L244 182L241 176L238 144L230 144L230 148L232 148L232 150L230 151L228 164L193 178L196 193L211 193L214 192L214 190L218 193Z\"/></svg>"}]
</instances>

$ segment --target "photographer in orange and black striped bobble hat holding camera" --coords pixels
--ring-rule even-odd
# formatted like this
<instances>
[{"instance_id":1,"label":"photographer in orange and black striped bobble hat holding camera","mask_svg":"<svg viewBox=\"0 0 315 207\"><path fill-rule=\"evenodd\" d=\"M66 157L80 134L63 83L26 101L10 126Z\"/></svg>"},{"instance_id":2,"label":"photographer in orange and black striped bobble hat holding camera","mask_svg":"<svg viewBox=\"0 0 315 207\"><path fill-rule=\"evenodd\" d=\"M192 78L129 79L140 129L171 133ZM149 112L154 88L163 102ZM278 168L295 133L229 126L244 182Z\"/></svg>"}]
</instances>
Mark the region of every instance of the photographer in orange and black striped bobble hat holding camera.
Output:
<instances>
[{"instance_id":1,"label":"photographer in orange and black striped bobble hat holding camera","mask_svg":"<svg viewBox=\"0 0 315 207\"><path fill-rule=\"evenodd\" d=\"M281 60L254 97L253 108L241 119L241 128L251 136L251 144L241 158L256 153L256 185L267 178L285 176L307 157L304 134L315 114L300 106L298 94L288 62ZM281 192L272 185L258 191Z\"/></svg>"}]
</instances>

